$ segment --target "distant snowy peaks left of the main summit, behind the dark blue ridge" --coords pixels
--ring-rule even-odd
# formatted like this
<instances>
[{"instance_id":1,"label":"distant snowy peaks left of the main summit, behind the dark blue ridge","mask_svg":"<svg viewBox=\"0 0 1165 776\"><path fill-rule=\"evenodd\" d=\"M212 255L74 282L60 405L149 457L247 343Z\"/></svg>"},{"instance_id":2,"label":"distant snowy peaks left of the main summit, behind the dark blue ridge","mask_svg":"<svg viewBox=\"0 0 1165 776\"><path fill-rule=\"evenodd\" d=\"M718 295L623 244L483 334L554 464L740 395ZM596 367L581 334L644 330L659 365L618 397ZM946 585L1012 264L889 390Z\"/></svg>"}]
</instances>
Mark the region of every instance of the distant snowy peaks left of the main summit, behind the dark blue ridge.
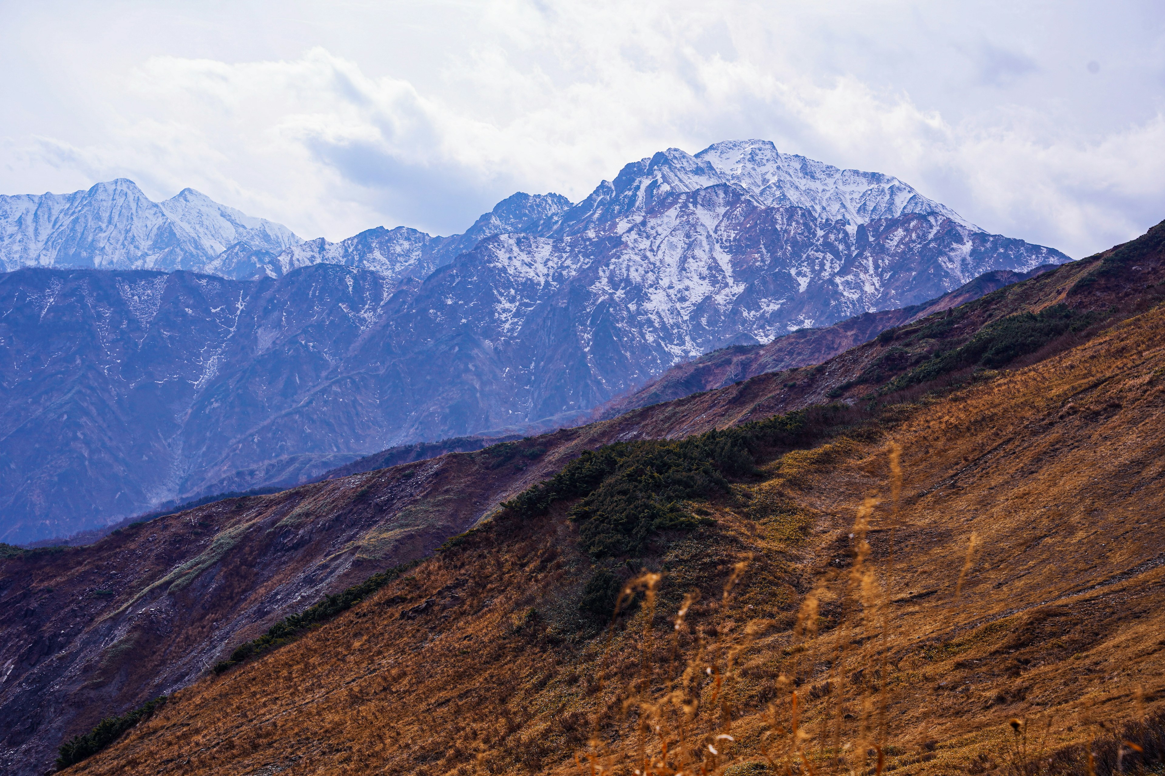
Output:
<instances>
[{"instance_id":1,"label":"distant snowy peaks left of the main summit, behind the dark blue ridge","mask_svg":"<svg viewBox=\"0 0 1165 776\"><path fill-rule=\"evenodd\" d=\"M343 240L304 241L287 227L219 205L193 188L154 202L118 178L71 194L0 195L0 271L21 266L188 270L238 280L341 264L389 278L423 278L494 234L523 232L571 202L517 193L463 235L376 227Z\"/></svg>"}]
</instances>

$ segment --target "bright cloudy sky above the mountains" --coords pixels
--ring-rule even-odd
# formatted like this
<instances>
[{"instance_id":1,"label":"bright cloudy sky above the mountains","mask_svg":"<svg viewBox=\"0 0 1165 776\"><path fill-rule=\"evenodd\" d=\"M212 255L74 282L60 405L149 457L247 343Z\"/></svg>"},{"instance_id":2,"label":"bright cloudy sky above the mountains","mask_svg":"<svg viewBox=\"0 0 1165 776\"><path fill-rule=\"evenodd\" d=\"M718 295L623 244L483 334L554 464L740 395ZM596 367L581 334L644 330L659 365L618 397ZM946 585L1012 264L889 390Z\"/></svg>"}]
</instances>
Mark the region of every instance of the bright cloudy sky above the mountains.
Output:
<instances>
[{"instance_id":1,"label":"bright cloudy sky above the mountains","mask_svg":"<svg viewBox=\"0 0 1165 776\"><path fill-rule=\"evenodd\" d=\"M303 237L744 137L1074 257L1165 219L1159 0L0 0L0 193L192 186Z\"/></svg>"}]
</instances>

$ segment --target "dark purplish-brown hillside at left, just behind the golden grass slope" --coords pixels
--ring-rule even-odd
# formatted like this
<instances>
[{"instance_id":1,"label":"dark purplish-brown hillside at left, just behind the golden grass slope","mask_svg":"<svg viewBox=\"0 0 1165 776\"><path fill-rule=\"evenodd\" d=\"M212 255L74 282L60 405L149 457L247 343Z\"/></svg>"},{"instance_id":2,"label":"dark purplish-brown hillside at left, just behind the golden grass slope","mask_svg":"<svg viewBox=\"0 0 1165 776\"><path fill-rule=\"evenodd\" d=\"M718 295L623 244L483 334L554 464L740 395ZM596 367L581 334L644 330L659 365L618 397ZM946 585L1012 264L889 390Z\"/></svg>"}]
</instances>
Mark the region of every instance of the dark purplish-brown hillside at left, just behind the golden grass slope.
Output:
<instances>
[{"instance_id":1,"label":"dark purplish-brown hillside at left, just behind the golden grass slope","mask_svg":"<svg viewBox=\"0 0 1165 776\"><path fill-rule=\"evenodd\" d=\"M751 392L725 397L747 413ZM800 397L790 397L790 406ZM726 422L732 422L728 412ZM617 439L711 422L701 400L535 440L227 499L96 544L0 556L0 771L185 686L240 642L369 575L425 557L497 504Z\"/></svg>"}]
</instances>

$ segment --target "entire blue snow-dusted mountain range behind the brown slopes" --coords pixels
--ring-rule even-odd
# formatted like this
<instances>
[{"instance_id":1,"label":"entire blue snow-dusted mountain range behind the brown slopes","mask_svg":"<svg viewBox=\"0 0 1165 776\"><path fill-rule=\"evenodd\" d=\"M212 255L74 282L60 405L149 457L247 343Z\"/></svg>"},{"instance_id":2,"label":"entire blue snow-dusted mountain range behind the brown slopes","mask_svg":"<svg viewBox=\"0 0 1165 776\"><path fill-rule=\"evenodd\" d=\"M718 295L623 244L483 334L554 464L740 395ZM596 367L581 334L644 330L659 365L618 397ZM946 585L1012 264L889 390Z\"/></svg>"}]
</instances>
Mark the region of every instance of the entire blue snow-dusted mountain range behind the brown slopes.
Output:
<instances>
[{"instance_id":1,"label":"entire blue snow-dusted mountain range behind the brown slopes","mask_svg":"<svg viewBox=\"0 0 1165 776\"><path fill-rule=\"evenodd\" d=\"M514 194L447 237L303 242L125 180L6 198L0 223L5 266L35 266L0 275L8 541L567 425L716 348L1067 261L765 141L661 151L578 204Z\"/></svg>"}]
</instances>

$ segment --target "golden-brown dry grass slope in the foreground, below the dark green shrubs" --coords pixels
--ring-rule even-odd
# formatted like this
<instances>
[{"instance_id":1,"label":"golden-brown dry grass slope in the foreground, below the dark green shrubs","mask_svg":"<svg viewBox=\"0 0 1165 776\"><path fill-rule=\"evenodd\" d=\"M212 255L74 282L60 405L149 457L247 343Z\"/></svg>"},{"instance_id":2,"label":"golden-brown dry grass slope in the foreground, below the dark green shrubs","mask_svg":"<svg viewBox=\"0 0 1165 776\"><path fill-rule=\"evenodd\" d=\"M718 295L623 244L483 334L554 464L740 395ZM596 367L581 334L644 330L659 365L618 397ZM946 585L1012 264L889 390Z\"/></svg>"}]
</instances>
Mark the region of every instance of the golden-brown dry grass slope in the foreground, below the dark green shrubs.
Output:
<instances>
[{"instance_id":1,"label":"golden-brown dry grass slope in the foreground, below the dark green shrubs","mask_svg":"<svg viewBox=\"0 0 1165 776\"><path fill-rule=\"evenodd\" d=\"M1159 306L891 407L702 505L609 636L562 508L487 524L68 773L1026 776L1165 705L1163 408Z\"/></svg>"}]
</instances>

